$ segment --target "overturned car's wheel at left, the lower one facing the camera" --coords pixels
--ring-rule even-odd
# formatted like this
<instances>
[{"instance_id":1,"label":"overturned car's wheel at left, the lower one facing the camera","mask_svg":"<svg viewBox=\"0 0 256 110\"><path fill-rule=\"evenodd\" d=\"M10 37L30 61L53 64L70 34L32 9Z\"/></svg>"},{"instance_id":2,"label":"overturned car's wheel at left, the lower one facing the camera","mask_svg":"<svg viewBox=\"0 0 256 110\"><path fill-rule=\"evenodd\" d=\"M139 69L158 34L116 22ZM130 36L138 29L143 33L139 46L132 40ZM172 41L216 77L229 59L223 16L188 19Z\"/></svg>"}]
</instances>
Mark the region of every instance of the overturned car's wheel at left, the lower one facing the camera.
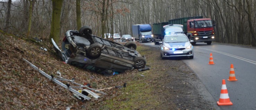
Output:
<instances>
[{"instance_id":1,"label":"overturned car's wheel at left, the lower one facing the camera","mask_svg":"<svg viewBox=\"0 0 256 110\"><path fill-rule=\"evenodd\" d=\"M91 46L89 46L88 48L89 57L93 59L98 58L100 56L100 53L101 53L101 47L99 44L92 44Z\"/></svg>"}]
</instances>

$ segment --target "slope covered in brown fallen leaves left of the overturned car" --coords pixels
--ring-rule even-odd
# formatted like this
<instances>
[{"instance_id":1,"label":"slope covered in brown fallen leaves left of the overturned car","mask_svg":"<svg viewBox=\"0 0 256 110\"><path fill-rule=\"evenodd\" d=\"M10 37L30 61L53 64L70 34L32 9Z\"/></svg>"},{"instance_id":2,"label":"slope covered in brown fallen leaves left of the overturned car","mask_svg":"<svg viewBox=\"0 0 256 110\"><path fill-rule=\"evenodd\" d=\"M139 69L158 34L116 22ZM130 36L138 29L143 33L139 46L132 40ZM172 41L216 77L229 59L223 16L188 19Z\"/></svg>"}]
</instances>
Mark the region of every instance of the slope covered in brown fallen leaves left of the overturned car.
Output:
<instances>
[{"instance_id":1,"label":"slope covered in brown fallen leaves left of the overturned car","mask_svg":"<svg viewBox=\"0 0 256 110\"><path fill-rule=\"evenodd\" d=\"M47 48L47 51L41 50L41 47ZM56 72L60 70L62 77L74 78L75 82L79 84L94 84L94 89L122 85L122 81L109 80L112 76L104 77L62 63L52 48L53 46L46 43L46 40L36 43L20 39L17 36L0 35L0 108L65 109L80 107L78 99L74 98L67 89L48 80L24 62L22 58L27 59L49 75L56 75Z\"/></svg>"}]
</instances>

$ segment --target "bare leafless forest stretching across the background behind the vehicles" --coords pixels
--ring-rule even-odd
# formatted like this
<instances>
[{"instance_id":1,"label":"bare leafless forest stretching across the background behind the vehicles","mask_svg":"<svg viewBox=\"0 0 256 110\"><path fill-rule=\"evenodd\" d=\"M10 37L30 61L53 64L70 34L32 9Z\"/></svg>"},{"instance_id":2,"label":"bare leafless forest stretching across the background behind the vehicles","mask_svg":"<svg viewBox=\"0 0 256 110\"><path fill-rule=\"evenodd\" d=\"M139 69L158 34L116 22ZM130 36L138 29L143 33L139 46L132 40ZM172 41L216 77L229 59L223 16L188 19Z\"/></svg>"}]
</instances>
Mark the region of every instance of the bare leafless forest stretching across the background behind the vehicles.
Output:
<instances>
[{"instance_id":1,"label":"bare leafless forest stretching across the background behind the vehicles","mask_svg":"<svg viewBox=\"0 0 256 110\"><path fill-rule=\"evenodd\" d=\"M49 38L56 1L58 38L85 25L97 36L123 35L133 24L203 16L215 20L216 42L256 45L256 0L0 0L0 31Z\"/></svg>"}]
</instances>

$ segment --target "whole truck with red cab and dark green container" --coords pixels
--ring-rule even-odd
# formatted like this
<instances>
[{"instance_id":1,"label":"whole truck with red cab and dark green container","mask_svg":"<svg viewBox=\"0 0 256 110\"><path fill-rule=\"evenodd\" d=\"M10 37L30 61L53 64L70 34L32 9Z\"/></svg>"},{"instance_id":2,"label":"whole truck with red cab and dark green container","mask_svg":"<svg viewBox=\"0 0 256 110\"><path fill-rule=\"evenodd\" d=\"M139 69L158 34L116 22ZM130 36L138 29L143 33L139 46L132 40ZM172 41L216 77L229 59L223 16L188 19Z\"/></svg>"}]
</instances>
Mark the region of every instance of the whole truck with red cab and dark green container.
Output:
<instances>
[{"instance_id":1,"label":"whole truck with red cab and dark green container","mask_svg":"<svg viewBox=\"0 0 256 110\"><path fill-rule=\"evenodd\" d=\"M211 19L203 18L203 16L186 17L172 19L168 23L183 25L183 31L192 45L196 44L196 42L204 42L211 45L212 41L215 41L213 30L215 21Z\"/></svg>"}]
</instances>

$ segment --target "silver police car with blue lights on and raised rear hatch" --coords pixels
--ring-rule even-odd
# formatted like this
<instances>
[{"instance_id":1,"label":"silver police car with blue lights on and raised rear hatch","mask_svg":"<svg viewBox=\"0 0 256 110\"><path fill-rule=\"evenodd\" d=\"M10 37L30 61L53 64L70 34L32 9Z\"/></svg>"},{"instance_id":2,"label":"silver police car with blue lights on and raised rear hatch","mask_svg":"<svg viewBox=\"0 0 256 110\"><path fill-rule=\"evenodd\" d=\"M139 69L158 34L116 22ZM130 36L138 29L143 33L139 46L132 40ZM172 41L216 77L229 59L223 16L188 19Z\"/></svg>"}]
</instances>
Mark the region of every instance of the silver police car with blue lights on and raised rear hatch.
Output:
<instances>
[{"instance_id":1,"label":"silver police car with blue lights on and raised rear hatch","mask_svg":"<svg viewBox=\"0 0 256 110\"><path fill-rule=\"evenodd\" d=\"M161 58L187 56L194 58L193 45L182 32L166 33L161 44Z\"/></svg>"}]
</instances>

